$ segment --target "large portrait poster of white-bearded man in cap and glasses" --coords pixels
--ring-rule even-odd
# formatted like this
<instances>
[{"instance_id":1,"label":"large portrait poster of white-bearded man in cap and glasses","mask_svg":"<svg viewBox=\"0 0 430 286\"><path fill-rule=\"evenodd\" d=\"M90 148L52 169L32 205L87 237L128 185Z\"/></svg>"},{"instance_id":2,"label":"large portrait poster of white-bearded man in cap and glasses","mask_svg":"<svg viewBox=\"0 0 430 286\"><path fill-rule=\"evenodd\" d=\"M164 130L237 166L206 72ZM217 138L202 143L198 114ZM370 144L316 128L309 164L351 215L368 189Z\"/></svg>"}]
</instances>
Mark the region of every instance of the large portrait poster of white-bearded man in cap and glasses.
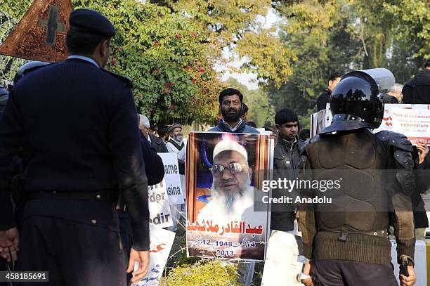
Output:
<instances>
[{"instance_id":1,"label":"large portrait poster of white-bearded man in cap and glasses","mask_svg":"<svg viewBox=\"0 0 430 286\"><path fill-rule=\"evenodd\" d=\"M188 256L262 261L270 212L259 204L273 146L259 134L193 132L188 139ZM256 207L256 206L259 207Z\"/></svg>"}]
</instances>

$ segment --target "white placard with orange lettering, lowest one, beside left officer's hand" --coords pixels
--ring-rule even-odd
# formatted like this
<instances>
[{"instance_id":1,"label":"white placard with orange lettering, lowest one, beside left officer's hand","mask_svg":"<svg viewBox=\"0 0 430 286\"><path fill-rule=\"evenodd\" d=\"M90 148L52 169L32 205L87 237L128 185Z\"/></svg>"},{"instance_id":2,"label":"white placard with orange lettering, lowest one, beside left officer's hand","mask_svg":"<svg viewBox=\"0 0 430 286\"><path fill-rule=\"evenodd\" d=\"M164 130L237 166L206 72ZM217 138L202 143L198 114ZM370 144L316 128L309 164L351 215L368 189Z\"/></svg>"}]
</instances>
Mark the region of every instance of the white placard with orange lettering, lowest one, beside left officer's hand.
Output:
<instances>
[{"instance_id":1,"label":"white placard with orange lettering, lowest one, beside left officer's hand","mask_svg":"<svg viewBox=\"0 0 430 286\"><path fill-rule=\"evenodd\" d=\"M134 285L155 286L159 284L167 259L169 259L174 239L174 232L150 224L150 263L148 274L146 274L141 282Z\"/></svg>"}]
</instances>

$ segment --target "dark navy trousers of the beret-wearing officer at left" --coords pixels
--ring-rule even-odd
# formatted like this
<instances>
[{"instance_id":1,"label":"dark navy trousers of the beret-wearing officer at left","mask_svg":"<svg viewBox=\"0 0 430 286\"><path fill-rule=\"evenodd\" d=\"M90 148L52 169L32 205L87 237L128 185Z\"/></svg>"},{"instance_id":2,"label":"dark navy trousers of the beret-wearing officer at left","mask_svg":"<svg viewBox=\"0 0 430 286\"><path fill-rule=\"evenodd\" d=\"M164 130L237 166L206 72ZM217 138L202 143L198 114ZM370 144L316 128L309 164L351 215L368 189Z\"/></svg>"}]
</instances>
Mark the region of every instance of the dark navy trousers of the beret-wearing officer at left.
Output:
<instances>
[{"instance_id":1,"label":"dark navy trousers of the beret-wearing officer at left","mask_svg":"<svg viewBox=\"0 0 430 286\"><path fill-rule=\"evenodd\" d=\"M49 282L20 285L126 285L119 232L49 216L22 224L18 271L48 271Z\"/></svg>"}]
</instances>

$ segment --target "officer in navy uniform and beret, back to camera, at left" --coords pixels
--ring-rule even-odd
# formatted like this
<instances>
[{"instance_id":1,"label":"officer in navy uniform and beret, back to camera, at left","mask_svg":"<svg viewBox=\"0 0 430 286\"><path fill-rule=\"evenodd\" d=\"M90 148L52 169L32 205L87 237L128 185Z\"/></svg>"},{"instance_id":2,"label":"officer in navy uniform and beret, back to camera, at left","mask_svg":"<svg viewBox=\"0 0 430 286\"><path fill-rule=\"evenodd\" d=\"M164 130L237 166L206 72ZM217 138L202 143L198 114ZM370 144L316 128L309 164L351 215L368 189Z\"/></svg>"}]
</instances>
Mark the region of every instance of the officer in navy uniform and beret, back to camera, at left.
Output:
<instances>
[{"instance_id":1,"label":"officer in navy uniform and beret, back to camera, at left","mask_svg":"<svg viewBox=\"0 0 430 286\"><path fill-rule=\"evenodd\" d=\"M49 285L126 285L119 192L133 230L127 270L139 265L131 281L148 271L148 180L131 82L103 70L114 35L100 13L73 11L71 56L20 79L0 118L0 252L19 249L18 270L49 271ZM30 159L18 247L7 185L22 142Z\"/></svg>"}]
</instances>

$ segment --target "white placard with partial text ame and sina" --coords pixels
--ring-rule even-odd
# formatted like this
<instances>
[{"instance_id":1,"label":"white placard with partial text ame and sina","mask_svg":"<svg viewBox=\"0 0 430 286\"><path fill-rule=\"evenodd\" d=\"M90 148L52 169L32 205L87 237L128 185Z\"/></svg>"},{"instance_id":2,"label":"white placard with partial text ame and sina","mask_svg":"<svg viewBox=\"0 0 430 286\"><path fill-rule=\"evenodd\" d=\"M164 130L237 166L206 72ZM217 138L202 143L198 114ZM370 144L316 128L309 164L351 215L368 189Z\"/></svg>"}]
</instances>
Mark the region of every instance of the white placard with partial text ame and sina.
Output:
<instances>
[{"instance_id":1,"label":"white placard with partial text ame and sina","mask_svg":"<svg viewBox=\"0 0 430 286\"><path fill-rule=\"evenodd\" d=\"M171 204L183 204L185 198L179 177L178 157L176 153L157 153L164 164L164 180L166 181L167 196Z\"/></svg>"}]
</instances>

